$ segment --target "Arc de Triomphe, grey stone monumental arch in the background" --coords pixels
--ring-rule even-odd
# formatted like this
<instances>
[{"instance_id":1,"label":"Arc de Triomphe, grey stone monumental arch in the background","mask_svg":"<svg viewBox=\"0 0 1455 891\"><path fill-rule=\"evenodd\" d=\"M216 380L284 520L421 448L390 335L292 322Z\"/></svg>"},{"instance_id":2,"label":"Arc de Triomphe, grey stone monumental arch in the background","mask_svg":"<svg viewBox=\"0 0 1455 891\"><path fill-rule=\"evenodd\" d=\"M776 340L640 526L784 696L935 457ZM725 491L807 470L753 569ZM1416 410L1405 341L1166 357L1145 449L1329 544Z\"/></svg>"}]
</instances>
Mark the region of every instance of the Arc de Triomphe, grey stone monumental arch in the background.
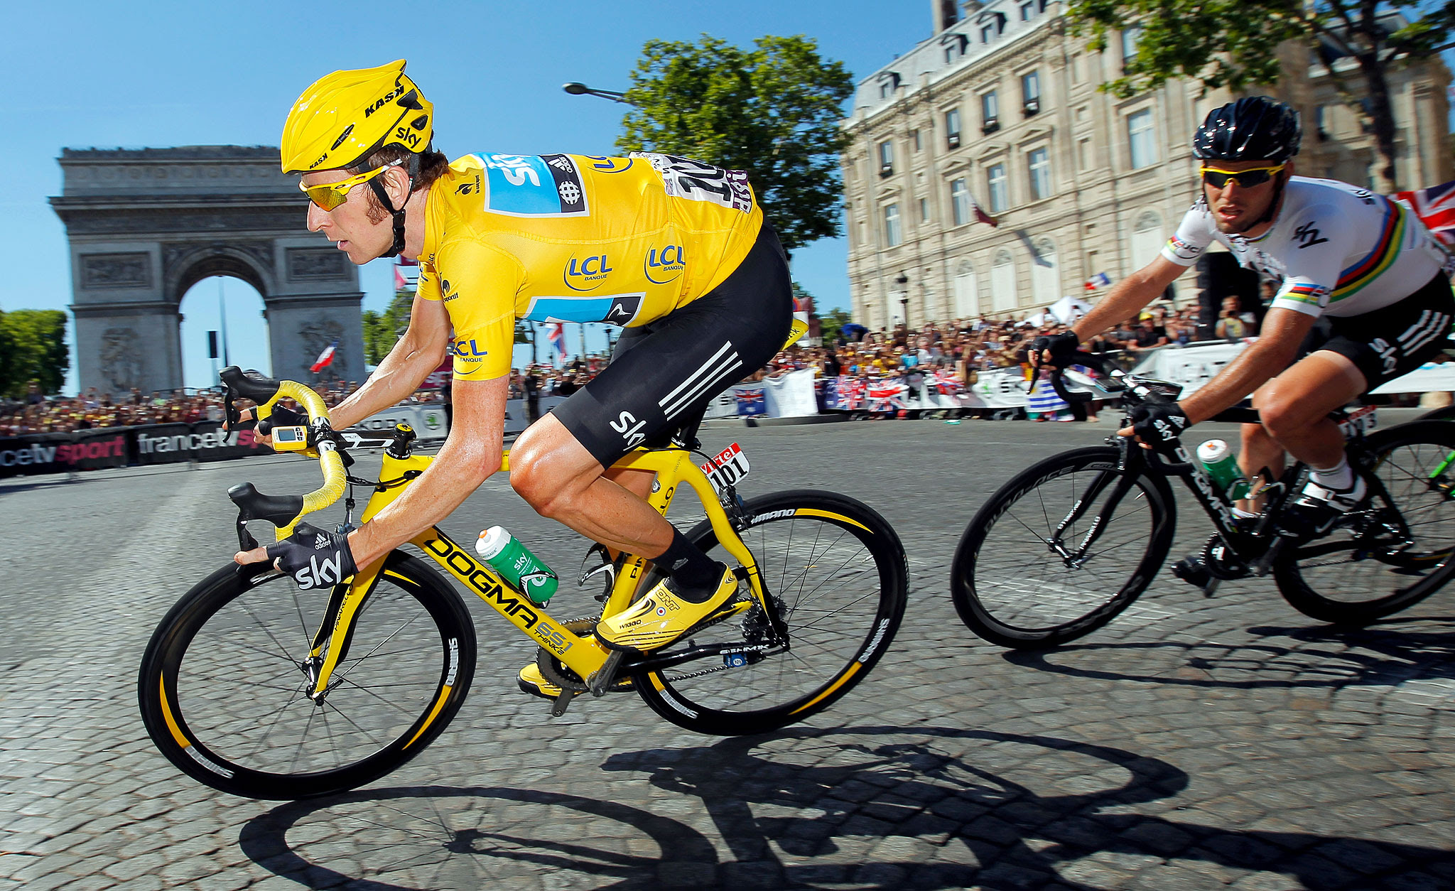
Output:
<instances>
[{"instance_id":1,"label":"Arc de Triomphe, grey stone monumental arch in the background","mask_svg":"<svg viewBox=\"0 0 1455 891\"><path fill-rule=\"evenodd\" d=\"M307 231L276 148L63 148L60 163L81 390L180 387L182 296L210 275L262 294L274 377L313 381L336 339L330 371L364 379L358 269Z\"/></svg>"}]
</instances>

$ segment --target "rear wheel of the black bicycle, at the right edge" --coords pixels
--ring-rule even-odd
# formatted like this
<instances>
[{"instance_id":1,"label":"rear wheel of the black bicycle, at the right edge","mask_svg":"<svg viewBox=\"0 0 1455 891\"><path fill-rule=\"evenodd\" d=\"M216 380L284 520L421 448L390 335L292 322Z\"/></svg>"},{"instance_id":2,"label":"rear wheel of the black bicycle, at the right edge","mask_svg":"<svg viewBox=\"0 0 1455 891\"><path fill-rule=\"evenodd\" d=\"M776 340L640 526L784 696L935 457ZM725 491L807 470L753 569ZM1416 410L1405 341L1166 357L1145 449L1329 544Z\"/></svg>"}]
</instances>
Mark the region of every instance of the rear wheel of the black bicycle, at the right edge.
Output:
<instances>
[{"instance_id":1,"label":"rear wheel of the black bicycle, at the right edge","mask_svg":"<svg viewBox=\"0 0 1455 891\"><path fill-rule=\"evenodd\" d=\"M1279 594L1310 619L1334 625L1366 625L1398 613L1443 587L1455 575L1455 473L1432 472L1455 451L1455 425L1414 421L1371 434L1366 440L1392 507L1404 517L1414 544L1381 552L1371 511L1391 507L1375 496L1365 520L1336 527L1273 562Z\"/></svg>"}]
</instances>

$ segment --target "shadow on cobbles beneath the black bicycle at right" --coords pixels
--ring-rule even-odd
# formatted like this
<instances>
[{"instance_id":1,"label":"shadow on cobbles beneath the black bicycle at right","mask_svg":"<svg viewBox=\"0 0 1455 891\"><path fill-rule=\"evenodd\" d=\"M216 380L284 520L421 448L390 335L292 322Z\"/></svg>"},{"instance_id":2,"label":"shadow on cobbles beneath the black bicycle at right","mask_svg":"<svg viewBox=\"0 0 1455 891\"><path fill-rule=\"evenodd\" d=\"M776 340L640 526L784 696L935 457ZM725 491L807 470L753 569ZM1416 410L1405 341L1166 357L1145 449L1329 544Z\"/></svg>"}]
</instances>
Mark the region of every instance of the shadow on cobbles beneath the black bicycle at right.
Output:
<instances>
[{"instance_id":1,"label":"shadow on cobbles beneath the black bicycle at right","mask_svg":"<svg viewBox=\"0 0 1455 891\"><path fill-rule=\"evenodd\" d=\"M1067 677L1234 690L1392 686L1410 680L1455 677L1455 617L1420 617L1422 625L1435 625L1436 630L1397 629L1398 623L1398 619L1390 619L1358 629L1328 625L1254 626L1247 629L1254 636L1251 642L1065 644L1040 651L1010 649L1001 658L1014 665ZM1176 657L1179 649L1181 658ZM1107 667L1116 662L1107 655L1135 652L1161 654L1164 667L1157 673ZM1128 661L1147 664L1147 658L1138 657L1129 657ZM1269 677L1270 674L1275 677ZM1285 677L1276 677L1277 674Z\"/></svg>"}]
</instances>

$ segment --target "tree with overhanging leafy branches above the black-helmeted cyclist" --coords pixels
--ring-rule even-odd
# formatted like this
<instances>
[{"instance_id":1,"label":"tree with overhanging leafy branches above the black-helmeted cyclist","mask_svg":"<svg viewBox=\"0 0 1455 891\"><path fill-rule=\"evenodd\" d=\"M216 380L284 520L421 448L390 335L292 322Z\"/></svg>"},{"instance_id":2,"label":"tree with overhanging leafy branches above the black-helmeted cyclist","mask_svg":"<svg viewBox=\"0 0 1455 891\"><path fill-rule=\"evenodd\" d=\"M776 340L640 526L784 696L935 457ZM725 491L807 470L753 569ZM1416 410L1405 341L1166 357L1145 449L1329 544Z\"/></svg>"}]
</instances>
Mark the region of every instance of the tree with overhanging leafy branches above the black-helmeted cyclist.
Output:
<instances>
[{"instance_id":1,"label":"tree with overhanging leafy branches above the black-helmeted cyclist","mask_svg":"<svg viewBox=\"0 0 1455 891\"><path fill-rule=\"evenodd\" d=\"M1400 26L1392 12L1408 23ZM1388 74L1455 47L1452 0L1439 6L1429 0L1071 0L1069 16L1077 32L1091 32L1096 50L1106 48L1110 29L1141 28L1136 55L1128 60L1123 76L1103 84L1122 98L1173 77L1232 90L1275 83L1283 64L1304 61L1299 55L1279 58L1285 41L1299 41L1301 50L1318 52L1324 63L1355 60L1368 103L1356 98L1349 74L1331 66L1328 73L1344 99L1368 118L1384 159L1376 183L1384 192L1400 188Z\"/></svg>"}]
</instances>

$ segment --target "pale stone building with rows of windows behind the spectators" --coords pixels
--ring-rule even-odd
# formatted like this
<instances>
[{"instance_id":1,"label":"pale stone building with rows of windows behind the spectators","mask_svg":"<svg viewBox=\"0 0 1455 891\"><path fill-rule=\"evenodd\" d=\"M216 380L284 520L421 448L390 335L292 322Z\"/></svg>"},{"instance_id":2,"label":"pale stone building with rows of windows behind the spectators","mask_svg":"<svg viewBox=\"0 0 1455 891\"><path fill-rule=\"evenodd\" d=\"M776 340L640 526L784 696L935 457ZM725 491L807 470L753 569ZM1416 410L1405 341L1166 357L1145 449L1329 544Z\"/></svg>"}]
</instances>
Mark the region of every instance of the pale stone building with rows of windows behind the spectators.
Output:
<instances>
[{"instance_id":1,"label":"pale stone building with rows of windows behind the spectators","mask_svg":"<svg viewBox=\"0 0 1455 891\"><path fill-rule=\"evenodd\" d=\"M1058 0L931 0L931 10L934 35L863 79L844 122L854 319L1021 317L1151 261L1197 197L1192 132L1229 95L1199 95L1192 82L1131 99L1099 92L1122 74L1135 33L1093 52L1068 33ZM1391 82L1407 182L1451 178L1449 79L1433 61ZM1286 82L1277 92L1308 130L1299 173L1368 182L1372 138L1350 131L1358 122L1330 99L1321 66ZM1197 296L1195 268L1174 294Z\"/></svg>"}]
</instances>

